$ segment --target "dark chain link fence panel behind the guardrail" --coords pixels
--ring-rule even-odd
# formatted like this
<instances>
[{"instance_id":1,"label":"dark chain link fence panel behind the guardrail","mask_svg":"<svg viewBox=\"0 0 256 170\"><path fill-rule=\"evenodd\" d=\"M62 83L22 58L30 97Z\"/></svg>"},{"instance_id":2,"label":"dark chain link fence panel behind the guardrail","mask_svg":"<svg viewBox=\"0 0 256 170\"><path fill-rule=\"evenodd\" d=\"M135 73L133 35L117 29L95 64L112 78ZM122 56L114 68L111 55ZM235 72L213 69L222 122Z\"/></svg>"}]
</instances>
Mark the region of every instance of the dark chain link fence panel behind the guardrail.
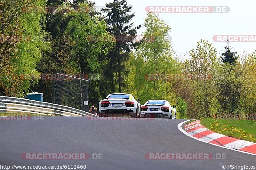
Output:
<instances>
[{"instance_id":1,"label":"dark chain link fence panel behind the guardrail","mask_svg":"<svg viewBox=\"0 0 256 170\"><path fill-rule=\"evenodd\" d=\"M84 101L88 101L89 82L79 77L58 74L53 78L53 102L84 111L89 110L88 105L84 105Z\"/></svg>"}]
</instances>

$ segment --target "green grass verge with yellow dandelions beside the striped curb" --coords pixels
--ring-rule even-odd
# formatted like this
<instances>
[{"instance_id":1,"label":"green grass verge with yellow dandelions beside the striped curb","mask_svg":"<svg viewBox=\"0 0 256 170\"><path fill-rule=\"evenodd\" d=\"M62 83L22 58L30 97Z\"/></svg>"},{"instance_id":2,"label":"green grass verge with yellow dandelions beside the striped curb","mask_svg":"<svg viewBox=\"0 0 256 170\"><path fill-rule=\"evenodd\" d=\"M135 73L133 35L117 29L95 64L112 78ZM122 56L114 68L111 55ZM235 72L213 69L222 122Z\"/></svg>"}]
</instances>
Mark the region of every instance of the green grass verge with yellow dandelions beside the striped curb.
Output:
<instances>
[{"instance_id":1,"label":"green grass verge with yellow dandelions beside the striped curb","mask_svg":"<svg viewBox=\"0 0 256 170\"><path fill-rule=\"evenodd\" d=\"M255 120L216 120L202 119L201 124L211 131L256 143Z\"/></svg>"}]
</instances>

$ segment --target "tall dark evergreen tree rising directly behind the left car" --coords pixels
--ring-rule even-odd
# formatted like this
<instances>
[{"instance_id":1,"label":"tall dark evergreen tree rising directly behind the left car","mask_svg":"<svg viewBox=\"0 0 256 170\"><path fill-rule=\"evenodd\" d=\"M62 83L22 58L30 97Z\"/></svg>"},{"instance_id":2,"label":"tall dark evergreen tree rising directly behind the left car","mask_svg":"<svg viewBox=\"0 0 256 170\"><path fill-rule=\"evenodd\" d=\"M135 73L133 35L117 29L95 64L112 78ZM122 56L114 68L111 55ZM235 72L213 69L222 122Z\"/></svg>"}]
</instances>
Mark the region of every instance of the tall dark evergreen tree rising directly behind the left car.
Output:
<instances>
[{"instance_id":1,"label":"tall dark evergreen tree rising directly behind the left car","mask_svg":"<svg viewBox=\"0 0 256 170\"><path fill-rule=\"evenodd\" d=\"M133 39L141 25L133 28L133 23L130 22L134 17L134 13L129 14L132 11L132 6L128 5L126 0L114 0L114 2L106 4L106 7L102 11L107 13L105 20L109 27L108 32L116 36L117 41L115 48L108 53L110 64L105 73L110 77L110 86L113 93L115 92L114 74L118 74L119 92L122 93L122 74L125 70L124 61L129 58L131 48L138 44L134 43ZM129 37L128 41L123 39L126 36ZM119 41L118 39L121 40Z\"/></svg>"}]
</instances>

